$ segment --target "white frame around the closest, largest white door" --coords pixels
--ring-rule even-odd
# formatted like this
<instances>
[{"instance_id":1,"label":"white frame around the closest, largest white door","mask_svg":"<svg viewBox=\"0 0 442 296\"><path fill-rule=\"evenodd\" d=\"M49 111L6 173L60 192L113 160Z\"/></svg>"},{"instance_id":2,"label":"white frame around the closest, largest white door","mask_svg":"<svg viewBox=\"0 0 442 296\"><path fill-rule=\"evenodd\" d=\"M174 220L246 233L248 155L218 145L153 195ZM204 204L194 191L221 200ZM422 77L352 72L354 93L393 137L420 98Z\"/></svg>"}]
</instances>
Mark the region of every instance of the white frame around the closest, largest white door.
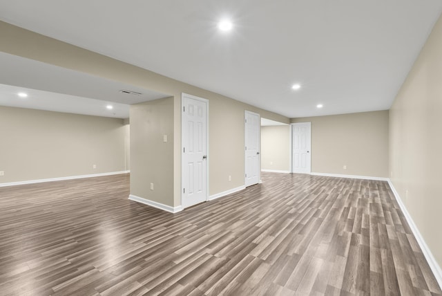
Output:
<instances>
[{"instance_id":1,"label":"white frame around the closest, largest white door","mask_svg":"<svg viewBox=\"0 0 442 296\"><path fill-rule=\"evenodd\" d=\"M180 115L181 115L181 206L184 207L183 198L184 198L184 116L182 115L182 109L184 107L184 98L190 98L193 100L197 100L200 102L204 102L206 104L206 201L209 201L209 100L197 97L196 95L189 95L188 93L181 93L181 107L180 107Z\"/></svg>"}]
</instances>

